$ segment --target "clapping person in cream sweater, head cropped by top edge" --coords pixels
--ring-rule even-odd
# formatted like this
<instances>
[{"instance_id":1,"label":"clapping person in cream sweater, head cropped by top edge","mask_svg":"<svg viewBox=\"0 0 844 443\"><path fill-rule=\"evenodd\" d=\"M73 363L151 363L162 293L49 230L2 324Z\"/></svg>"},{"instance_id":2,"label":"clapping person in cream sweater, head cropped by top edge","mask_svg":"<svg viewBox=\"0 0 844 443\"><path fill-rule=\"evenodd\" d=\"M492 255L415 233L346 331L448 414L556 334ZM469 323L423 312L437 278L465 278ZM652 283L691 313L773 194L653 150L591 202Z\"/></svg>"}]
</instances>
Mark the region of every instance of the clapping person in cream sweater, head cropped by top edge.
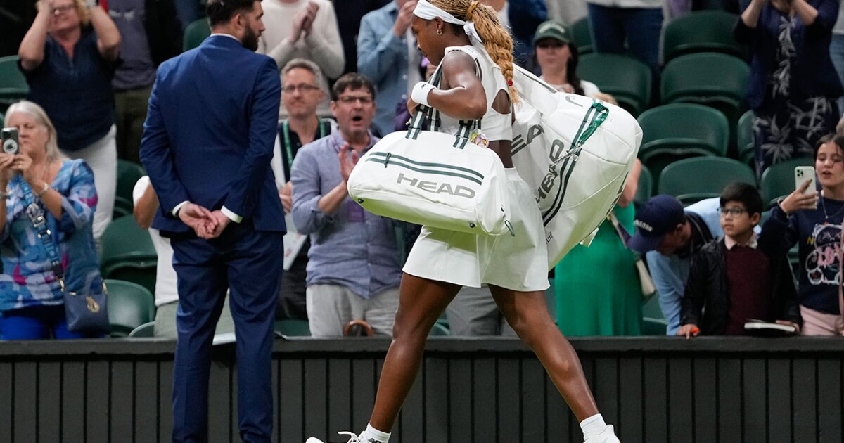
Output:
<instances>
[{"instance_id":1,"label":"clapping person in cream sweater, head cropped by top edge","mask_svg":"<svg viewBox=\"0 0 844 443\"><path fill-rule=\"evenodd\" d=\"M257 52L272 57L279 71L294 58L306 58L316 62L328 78L343 73L343 42L330 1L267 0L263 8L267 30L258 41ZM326 101L317 109L320 116L330 112ZM286 116L281 108L279 117Z\"/></svg>"}]
</instances>

